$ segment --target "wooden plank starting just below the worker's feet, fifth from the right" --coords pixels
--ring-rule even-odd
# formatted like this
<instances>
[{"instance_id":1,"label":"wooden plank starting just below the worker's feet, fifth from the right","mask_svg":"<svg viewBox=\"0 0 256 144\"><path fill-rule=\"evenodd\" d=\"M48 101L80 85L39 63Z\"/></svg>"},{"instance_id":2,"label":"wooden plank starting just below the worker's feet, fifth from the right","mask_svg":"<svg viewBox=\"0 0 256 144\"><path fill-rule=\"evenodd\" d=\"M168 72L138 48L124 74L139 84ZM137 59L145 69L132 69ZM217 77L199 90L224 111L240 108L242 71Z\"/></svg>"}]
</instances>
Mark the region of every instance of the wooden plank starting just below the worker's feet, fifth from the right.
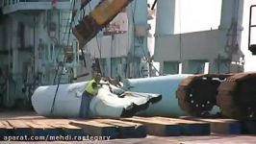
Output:
<instances>
[{"instance_id":1,"label":"wooden plank starting just below the worker's feet, fifth from the right","mask_svg":"<svg viewBox=\"0 0 256 144\"><path fill-rule=\"evenodd\" d=\"M104 124L93 120L71 121L70 125L83 129L83 132L91 136L110 136L112 139L118 137L118 130L114 125Z\"/></svg>"}]
</instances>

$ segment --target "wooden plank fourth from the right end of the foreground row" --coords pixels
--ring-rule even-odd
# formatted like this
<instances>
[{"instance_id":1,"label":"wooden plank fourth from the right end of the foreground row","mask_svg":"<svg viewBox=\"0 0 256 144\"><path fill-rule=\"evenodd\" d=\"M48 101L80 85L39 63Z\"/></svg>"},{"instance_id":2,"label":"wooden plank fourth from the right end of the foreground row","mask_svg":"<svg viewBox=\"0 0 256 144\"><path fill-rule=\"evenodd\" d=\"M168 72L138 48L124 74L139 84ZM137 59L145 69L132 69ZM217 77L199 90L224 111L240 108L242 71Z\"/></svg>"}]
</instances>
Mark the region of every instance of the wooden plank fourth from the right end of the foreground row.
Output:
<instances>
[{"instance_id":1,"label":"wooden plank fourth from the right end of the foreground row","mask_svg":"<svg viewBox=\"0 0 256 144\"><path fill-rule=\"evenodd\" d=\"M146 136L146 128L140 123L115 119L97 119L96 121L114 125L118 130L118 138L141 138Z\"/></svg>"}]
</instances>

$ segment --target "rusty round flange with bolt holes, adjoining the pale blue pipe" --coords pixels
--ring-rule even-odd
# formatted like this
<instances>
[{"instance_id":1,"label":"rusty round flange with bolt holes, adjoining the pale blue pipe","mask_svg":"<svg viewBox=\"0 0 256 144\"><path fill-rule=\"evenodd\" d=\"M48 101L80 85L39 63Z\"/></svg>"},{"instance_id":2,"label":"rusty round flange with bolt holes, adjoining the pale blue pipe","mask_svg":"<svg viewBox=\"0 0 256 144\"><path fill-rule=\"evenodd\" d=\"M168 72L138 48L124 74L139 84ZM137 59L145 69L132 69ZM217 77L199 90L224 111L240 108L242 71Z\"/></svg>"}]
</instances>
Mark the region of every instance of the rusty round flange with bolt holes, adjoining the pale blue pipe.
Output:
<instances>
[{"instance_id":1,"label":"rusty round flange with bolt holes, adjoining the pale blue pipe","mask_svg":"<svg viewBox=\"0 0 256 144\"><path fill-rule=\"evenodd\" d=\"M194 75L179 85L176 96L180 108L193 116L206 116L217 105L218 85L230 75Z\"/></svg>"}]
</instances>

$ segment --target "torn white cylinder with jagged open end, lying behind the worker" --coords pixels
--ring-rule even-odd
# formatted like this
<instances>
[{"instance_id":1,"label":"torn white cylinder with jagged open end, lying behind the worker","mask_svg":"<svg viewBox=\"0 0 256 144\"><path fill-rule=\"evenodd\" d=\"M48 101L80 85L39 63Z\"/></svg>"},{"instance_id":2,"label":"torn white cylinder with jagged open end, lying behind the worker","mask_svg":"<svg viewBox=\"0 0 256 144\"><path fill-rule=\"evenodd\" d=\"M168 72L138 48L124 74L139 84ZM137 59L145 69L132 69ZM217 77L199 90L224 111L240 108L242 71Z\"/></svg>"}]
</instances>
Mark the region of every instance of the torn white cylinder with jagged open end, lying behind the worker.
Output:
<instances>
[{"instance_id":1,"label":"torn white cylinder with jagged open end, lying behind the worker","mask_svg":"<svg viewBox=\"0 0 256 144\"><path fill-rule=\"evenodd\" d=\"M78 117L82 93L88 82L60 84L53 105L57 85L39 86L32 96L32 105L43 116ZM103 85L90 102L90 117L133 116L147 108L160 94L125 92L114 85ZM121 96L117 96L122 94ZM53 108L53 110L52 110Z\"/></svg>"}]
</instances>

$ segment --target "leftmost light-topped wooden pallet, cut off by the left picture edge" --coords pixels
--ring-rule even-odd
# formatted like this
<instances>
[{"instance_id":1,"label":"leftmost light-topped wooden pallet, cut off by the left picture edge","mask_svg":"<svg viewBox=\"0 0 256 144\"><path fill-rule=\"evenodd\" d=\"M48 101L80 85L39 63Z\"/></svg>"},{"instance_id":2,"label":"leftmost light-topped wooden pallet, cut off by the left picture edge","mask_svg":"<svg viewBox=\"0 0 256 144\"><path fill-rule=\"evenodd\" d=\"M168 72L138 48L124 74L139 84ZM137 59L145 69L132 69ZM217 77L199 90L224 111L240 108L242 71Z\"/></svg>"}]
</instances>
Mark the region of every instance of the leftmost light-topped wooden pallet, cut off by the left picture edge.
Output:
<instances>
[{"instance_id":1,"label":"leftmost light-topped wooden pallet, cut off by the left picture edge","mask_svg":"<svg viewBox=\"0 0 256 144\"><path fill-rule=\"evenodd\" d=\"M55 120L6 120L0 121L0 140L4 136L66 136L83 135L83 129L69 124L56 123ZM50 138L48 140L51 140Z\"/></svg>"}]
</instances>

